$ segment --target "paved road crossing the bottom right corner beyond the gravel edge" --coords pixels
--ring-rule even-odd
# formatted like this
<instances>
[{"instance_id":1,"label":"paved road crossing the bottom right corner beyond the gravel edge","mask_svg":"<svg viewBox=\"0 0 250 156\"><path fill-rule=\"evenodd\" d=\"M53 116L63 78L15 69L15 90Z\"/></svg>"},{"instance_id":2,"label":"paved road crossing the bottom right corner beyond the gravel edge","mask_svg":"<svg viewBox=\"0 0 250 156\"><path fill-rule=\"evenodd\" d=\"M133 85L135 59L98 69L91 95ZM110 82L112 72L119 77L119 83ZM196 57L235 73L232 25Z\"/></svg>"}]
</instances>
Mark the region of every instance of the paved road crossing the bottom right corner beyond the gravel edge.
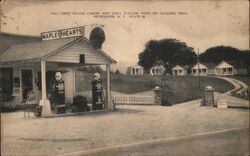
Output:
<instances>
[{"instance_id":1,"label":"paved road crossing the bottom right corner beyond the gravel edge","mask_svg":"<svg viewBox=\"0 0 250 156\"><path fill-rule=\"evenodd\" d=\"M249 148L248 127L67 153L61 156L249 156Z\"/></svg>"}]
</instances>

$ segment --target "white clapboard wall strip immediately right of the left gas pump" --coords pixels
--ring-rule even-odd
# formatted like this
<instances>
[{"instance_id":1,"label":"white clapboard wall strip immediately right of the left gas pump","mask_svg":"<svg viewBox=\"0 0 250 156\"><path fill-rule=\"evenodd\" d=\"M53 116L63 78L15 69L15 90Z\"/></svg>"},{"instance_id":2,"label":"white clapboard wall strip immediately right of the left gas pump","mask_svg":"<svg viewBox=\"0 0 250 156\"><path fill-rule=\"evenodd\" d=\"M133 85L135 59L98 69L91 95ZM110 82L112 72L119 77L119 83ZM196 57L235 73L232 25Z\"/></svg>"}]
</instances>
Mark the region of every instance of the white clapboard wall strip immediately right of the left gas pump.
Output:
<instances>
[{"instance_id":1,"label":"white clapboard wall strip immediately right of the left gas pump","mask_svg":"<svg viewBox=\"0 0 250 156\"><path fill-rule=\"evenodd\" d=\"M62 74L64 83L65 83L65 102L72 103L73 102L73 94L74 94L74 73L73 70L69 70L66 73Z\"/></svg>"}]
</instances>

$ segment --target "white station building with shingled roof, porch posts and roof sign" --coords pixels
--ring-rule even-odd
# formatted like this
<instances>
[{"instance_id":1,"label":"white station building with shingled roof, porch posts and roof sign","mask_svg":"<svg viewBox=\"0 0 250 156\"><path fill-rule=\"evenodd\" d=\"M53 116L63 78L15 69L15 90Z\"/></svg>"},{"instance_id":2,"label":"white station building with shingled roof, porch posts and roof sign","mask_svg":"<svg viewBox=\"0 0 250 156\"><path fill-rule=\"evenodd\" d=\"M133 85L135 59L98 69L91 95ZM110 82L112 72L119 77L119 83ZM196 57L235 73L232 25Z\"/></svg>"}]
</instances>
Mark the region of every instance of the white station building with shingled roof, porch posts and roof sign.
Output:
<instances>
[{"instance_id":1,"label":"white station building with shingled roof, porch posts and roof sign","mask_svg":"<svg viewBox=\"0 0 250 156\"><path fill-rule=\"evenodd\" d=\"M105 108L112 109L110 64L116 63L101 49L93 48L84 35L84 27L62 29L41 34L41 41L16 44L1 54L1 68L12 68L13 96L17 103L33 90L43 116L50 115L50 101L46 87L54 73L60 71L65 81L65 100L73 102L75 67L78 65L106 65L107 87Z\"/></svg>"}]
</instances>

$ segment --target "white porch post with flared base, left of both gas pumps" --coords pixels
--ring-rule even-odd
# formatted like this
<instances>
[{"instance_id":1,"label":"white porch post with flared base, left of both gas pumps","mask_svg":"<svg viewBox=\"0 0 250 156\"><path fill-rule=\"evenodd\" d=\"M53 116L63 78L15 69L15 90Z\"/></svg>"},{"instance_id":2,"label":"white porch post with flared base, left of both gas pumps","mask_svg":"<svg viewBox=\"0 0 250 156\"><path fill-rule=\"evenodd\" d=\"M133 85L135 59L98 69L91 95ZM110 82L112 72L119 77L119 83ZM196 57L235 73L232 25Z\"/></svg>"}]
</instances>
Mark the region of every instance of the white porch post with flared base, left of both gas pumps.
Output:
<instances>
[{"instance_id":1,"label":"white porch post with flared base, left of both gas pumps","mask_svg":"<svg viewBox=\"0 0 250 156\"><path fill-rule=\"evenodd\" d=\"M46 62L41 61L41 77L42 77L42 99L39 102L42 108L42 116L51 115L50 101L47 99L46 91Z\"/></svg>"}]
</instances>

